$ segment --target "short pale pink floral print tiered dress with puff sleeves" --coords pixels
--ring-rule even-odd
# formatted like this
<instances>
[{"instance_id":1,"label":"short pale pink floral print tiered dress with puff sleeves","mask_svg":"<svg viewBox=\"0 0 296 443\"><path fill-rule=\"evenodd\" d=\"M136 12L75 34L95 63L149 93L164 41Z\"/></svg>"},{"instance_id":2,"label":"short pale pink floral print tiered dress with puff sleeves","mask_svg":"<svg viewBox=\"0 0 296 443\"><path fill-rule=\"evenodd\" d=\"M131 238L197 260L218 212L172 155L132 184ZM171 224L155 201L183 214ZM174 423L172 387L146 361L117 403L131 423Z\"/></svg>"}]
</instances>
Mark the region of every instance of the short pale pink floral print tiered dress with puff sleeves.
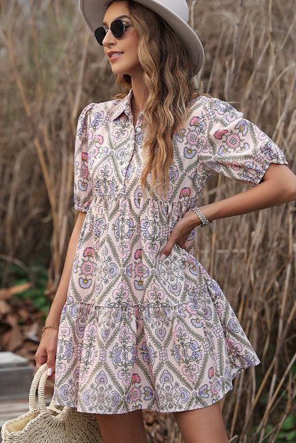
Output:
<instances>
[{"instance_id":1,"label":"short pale pink floral print tiered dress with puff sleeves","mask_svg":"<svg viewBox=\"0 0 296 443\"><path fill-rule=\"evenodd\" d=\"M143 114L133 125L132 91L91 104L78 122L75 208L87 213L60 319L55 402L81 412L206 407L257 365L220 287L175 245L159 254L213 174L255 186L282 151L231 105L200 96L176 134L169 192L159 198L142 173ZM159 191L159 189L157 189Z\"/></svg>"}]
</instances>

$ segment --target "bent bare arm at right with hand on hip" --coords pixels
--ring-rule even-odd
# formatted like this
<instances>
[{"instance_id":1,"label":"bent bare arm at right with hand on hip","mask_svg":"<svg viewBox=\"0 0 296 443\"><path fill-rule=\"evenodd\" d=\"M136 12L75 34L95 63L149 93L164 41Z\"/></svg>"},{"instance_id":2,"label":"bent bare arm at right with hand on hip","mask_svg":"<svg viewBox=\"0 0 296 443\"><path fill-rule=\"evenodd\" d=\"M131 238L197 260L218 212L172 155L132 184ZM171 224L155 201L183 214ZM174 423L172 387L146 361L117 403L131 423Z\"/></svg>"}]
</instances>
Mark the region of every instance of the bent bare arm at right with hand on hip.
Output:
<instances>
[{"instance_id":1,"label":"bent bare arm at right with hand on hip","mask_svg":"<svg viewBox=\"0 0 296 443\"><path fill-rule=\"evenodd\" d=\"M250 213L253 210L270 208L271 206L296 200L296 176L285 165L271 164L263 176L263 181L255 188L250 188L210 205L202 206L201 210L208 220L232 217ZM171 231L169 240L162 250L161 260L171 253L175 243L184 247L187 237L201 220L193 210L189 210Z\"/></svg>"}]
</instances>

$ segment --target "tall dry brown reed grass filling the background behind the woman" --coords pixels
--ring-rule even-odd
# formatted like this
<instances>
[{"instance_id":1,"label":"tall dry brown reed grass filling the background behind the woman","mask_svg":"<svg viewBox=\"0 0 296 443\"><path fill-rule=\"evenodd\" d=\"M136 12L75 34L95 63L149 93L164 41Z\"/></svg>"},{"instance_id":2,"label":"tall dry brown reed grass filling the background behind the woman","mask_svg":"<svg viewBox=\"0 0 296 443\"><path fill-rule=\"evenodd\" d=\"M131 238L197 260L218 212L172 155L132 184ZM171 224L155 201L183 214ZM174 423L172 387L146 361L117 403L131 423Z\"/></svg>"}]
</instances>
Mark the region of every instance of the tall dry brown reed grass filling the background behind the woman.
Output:
<instances>
[{"instance_id":1,"label":"tall dry brown reed grass filling the background behind the woman","mask_svg":"<svg viewBox=\"0 0 296 443\"><path fill-rule=\"evenodd\" d=\"M51 249L54 289L74 218L76 119L115 87L75 1L0 4L0 258L26 268ZM295 0L191 0L190 6L206 50L200 89L234 102L280 144L296 171ZM218 177L202 203L242 189ZM213 223L196 236L196 255L262 360L223 400L231 441L273 443L285 417L295 414L295 203ZM174 435L167 441L181 442L169 416L167 432Z\"/></svg>"}]
</instances>

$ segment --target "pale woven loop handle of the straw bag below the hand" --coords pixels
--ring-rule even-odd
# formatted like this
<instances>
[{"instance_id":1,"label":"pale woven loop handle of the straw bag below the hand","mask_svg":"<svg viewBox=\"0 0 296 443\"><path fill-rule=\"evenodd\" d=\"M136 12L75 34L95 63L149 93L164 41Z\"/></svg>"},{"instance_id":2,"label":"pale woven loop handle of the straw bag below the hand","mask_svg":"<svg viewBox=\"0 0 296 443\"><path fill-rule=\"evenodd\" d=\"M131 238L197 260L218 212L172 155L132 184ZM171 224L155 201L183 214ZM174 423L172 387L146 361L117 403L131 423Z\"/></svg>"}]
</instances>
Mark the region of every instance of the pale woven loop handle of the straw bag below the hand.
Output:
<instances>
[{"instance_id":1,"label":"pale woven loop handle of the straw bag below the hand","mask_svg":"<svg viewBox=\"0 0 296 443\"><path fill-rule=\"evenodd\" d=\"M58 417L51 415L50 410L46 406L46 398L45 398L45 387L46 387L47 373L46 373L46 363L44 363L34 375L34 378L31 383L30 393L28 397L30 410L34 412L41 412L42 415L46 415L48 419L52 422L56 422ZM36 404L36 390L38 389L38 405ZM56 411L59 412L60 411Z\"/></svg>"}]
</instances>

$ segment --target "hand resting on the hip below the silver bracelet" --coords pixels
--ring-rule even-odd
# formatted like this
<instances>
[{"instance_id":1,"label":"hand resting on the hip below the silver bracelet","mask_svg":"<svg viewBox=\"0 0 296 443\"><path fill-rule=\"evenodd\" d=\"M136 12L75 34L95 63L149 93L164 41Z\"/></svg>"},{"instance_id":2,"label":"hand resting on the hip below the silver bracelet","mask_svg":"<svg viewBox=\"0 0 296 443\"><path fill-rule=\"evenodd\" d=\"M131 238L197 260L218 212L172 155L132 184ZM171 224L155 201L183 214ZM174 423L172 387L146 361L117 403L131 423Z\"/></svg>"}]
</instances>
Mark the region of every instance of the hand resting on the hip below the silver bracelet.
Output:
<instances>
[{"instance_id":1,"label":"hand resting on the hip below the silver bracelet","mask_svg":"<svg viewBox=\"0 0 296 443\"><path fill-rule=\"evenodd\" d=\"M185 246L185 242L192 230L197 225L201 225L201 220L194 213L193 210L189 210L186 214L176 223L174 229L169 235L169 240L160 253L159 260L162 262L168 255L170 255L173 246L177 243L180 247Z\"/></svg>"}]
</instances>

